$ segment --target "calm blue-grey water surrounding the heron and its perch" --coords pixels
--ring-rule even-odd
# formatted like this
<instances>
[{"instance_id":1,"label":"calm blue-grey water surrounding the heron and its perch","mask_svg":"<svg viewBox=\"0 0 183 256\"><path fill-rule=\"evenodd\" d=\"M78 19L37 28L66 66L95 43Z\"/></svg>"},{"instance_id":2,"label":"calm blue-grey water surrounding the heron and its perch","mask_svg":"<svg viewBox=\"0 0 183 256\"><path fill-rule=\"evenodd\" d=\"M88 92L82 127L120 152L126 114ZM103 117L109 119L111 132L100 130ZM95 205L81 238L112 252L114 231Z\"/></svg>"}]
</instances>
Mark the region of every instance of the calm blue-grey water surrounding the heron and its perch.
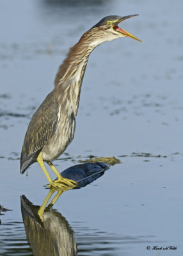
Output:
<instances>
[{"instance_id":1,"label":"calm blue-grey water surrounding the heron and its perch","mask_svg":"<svg viewBox=\"0 0 183 256\"><path fill-rule=\"evenodd\" d=\"M20 176L19 157L68 48L102 17L135 13L121 26L145 44L121 38L92 52L74 141L55 161L60 172L90 155L122 164L65 191L44 218L66 238L60 255L76 255L76 246L86 256L182 255L182 12L179 0L0 1L0 204L12 209L1 212L0 255L33 255L44 244L39 237L29 246L22 214L38 221L47 179L38 164Z\"/></svg>"}]
</instances>

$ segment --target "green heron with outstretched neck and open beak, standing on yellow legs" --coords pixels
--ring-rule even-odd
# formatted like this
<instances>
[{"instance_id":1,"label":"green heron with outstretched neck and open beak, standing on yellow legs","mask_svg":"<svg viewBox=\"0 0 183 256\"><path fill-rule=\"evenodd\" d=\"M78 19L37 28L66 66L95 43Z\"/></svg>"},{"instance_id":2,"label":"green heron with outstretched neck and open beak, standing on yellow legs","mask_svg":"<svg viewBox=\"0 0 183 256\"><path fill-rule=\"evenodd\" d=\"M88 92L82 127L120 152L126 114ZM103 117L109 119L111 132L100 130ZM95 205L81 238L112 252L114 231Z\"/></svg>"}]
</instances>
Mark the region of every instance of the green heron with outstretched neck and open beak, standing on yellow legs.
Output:
<instances>
[{"instance_id":1,"label":"green heron with outstretched neck and open beak, standing on yellow legs","mask_svg":"<svg viewBox=\"0 0 183 256\"><path fill-rule=\"evenodd\" d=\"M56 74L54 90L47 95L31 118L22 146L20 173L24 173L31 164L38 161L51 187L76 185L74 180L63 178L52 161L65 151L74 138L75 118L88 57L97 45L123 36L142 42L118 27L120 22L136 15L104 17L70 49ZM56 174L57 180L51 179L44 161Z\"/></svg>"}]
</instances>

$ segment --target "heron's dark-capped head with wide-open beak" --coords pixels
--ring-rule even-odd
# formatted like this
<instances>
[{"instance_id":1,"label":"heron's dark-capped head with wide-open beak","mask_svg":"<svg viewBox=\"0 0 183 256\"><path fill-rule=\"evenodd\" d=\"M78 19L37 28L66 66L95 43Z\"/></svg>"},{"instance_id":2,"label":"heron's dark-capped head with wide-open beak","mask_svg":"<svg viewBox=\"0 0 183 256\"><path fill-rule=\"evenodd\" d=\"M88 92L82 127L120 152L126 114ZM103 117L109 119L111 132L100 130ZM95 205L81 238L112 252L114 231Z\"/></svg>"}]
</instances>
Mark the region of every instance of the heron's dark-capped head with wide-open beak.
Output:
<instances>
[{"instance_id":1,"label":"heron's dark-capped head with wide-open beak","mask_svg":"<svg viewBox=\"0 0 183 256\"><path fill-rule=\"evenodd\" d=\"M124 17L113 15L104 17L95 26L88 30L86 34L90 36L90 39L93 42L93 44L96 44L95 46L102 44L106 41L113 41L123 36L130 37L132 39L138 40L139 42L142 42L136 36L133 36L129 32L118 27L118 24L123 20L129 19L137 15L138 14Z\"/></svg>"}]
</instances>

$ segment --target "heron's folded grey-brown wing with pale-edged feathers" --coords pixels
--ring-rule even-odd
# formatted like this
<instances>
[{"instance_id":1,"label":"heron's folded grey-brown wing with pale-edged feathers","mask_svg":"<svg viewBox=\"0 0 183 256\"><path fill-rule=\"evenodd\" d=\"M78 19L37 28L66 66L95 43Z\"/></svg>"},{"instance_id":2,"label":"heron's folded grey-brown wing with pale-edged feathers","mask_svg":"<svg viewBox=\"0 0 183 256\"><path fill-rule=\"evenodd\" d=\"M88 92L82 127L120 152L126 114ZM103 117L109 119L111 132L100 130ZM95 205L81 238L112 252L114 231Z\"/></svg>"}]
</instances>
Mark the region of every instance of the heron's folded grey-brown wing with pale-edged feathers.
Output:
<instances>
[{"instance_id":1,"label":"heron's folded grey-brown wing with pale-edged feathers","mask_svg":"<svg viewBox=\"0 0 183 256\"><path fill-rule=\"evenodd\" d=\"M49 99L50 95L47 96L29 123L20 158L20 173L24 173L26 168L34 162L34 158L38 156L40 150L56 131L60 119L60 106Z\"/></svg>"}]
</instances>

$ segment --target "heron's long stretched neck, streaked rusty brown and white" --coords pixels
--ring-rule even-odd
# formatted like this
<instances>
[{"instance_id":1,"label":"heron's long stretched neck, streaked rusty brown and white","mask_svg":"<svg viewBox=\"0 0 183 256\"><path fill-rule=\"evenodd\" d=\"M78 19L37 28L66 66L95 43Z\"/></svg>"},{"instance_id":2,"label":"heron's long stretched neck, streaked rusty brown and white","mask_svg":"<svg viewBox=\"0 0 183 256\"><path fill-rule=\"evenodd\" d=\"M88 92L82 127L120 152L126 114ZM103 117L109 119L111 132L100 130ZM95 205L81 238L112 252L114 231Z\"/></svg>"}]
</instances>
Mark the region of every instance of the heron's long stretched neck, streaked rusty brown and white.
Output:
<instances>
[{"instance_id":1,"label":"heron's long stretched neck, streaked rusty brown and white","mask_svg":"<svg viewBox=\"0 0 183 256\"><path fill-rule=\"evenodd\" d=\"M79 42L70 49L56 75L55 89L61 92L58 93L59 101L64 102L63 106L67 107L68 115L77 115L81 84L88 57L93 49L100 44L99 41L91 39L86 32Z\"/></svg>"}]
</instances>

